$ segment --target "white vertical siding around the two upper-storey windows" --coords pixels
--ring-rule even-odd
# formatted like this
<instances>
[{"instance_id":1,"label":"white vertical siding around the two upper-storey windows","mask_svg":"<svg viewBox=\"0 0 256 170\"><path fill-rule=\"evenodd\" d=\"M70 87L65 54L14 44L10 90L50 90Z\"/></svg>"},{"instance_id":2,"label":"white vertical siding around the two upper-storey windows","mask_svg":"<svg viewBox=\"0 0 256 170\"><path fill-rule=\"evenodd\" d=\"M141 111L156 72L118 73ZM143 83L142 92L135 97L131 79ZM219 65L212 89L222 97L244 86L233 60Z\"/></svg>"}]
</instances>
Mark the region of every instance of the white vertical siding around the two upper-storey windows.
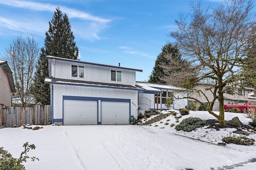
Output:
<instances>
[{"instance_id":1,"label":"white vertical siding around the two upper-storey windows","mask_svg":"<svg viewBox=\"0 0 256 170\"><path fill-rule=\"evenodd\" d=\"M54 62L54 63L53 63ZM75 78L71 76L71 64L84 66L85 73L84 78ZM123 68L111 68L107 66L98 66L85 63L76 63L70 61L60 61L49 59L49 76L54 78L63 78L70 80L84 80L90 82L102 82L102 83L115 83L115 84L126 84L135 86L136 84L136 71L127 70ZM122 71L122 82L111 81L110 70Z\"/></svg>"}]
</instances>

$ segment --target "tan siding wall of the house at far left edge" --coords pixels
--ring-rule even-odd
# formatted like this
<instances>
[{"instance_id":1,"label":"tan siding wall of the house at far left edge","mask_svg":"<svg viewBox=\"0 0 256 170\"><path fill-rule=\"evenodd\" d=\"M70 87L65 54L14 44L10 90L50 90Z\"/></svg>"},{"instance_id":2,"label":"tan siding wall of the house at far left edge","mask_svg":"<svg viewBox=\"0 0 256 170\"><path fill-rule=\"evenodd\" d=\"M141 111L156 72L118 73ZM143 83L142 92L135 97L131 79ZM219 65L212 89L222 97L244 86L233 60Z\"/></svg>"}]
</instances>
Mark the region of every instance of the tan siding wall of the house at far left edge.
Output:
<instances>
[{"instance_id":1,"label":"tan siding wall of the house at far left edge","mask_svg":"<svg viewBox=\"0 0 256 170\"><path fill-rule=\"evenodd\" d=\"M10 82L4 67L0 67L0 104L12 106Z\"/></svg>"}]
</instances>

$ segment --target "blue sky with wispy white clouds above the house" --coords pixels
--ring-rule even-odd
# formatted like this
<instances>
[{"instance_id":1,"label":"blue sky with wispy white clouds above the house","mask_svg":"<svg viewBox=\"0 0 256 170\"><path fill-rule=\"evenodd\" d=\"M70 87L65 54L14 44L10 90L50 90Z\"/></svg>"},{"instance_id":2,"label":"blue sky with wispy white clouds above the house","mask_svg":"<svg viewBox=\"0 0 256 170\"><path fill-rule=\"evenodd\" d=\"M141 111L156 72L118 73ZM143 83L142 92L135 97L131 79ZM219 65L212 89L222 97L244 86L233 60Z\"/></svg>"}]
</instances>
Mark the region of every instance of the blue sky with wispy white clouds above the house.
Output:
<instances>
[{"instance_id":1,"label":"blue sky with wispy white clouds above the house","mask_svg":"<svg viewBox=\"0 0 256 170\"><path fill-rule=\"evenodd\" d=\"M33 35L44 46L48 22L60 7L69 17L80 60L142 69L136 80L148 80L156 57L176 30L189 0L1 0L0 54L20 35ZM221 0L205 0L216 6Z\"/></svg>"}]
</instances>

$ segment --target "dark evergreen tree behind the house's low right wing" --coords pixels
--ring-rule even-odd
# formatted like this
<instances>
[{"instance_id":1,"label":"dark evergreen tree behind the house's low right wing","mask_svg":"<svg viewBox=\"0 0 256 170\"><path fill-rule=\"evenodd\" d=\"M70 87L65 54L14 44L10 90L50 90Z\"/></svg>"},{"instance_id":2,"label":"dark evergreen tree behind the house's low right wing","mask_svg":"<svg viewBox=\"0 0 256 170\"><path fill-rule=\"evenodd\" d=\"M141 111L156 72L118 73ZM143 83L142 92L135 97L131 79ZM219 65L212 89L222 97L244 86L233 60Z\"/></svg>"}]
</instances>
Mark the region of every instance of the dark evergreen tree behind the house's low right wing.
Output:
<instances>
[{"instance_id":1,"label":"dark evergreen tree behind the house's low right wing","mask_svg":"<svg viewBox=\"0 0 256 170\"><path fill-rule=\"evenodd\" d=\"M162 52L157 56L155 66L149 76L148 82L166 84L165 78L166 76L170 76L173 70L168 69L166 72L165 67L170 66L170 68L174 68L174 64L177 62L173 61L178 61L178 63L185 63L180 55L178 46L168 42L166 45L164 45L164 47L162 47Z\"/></svg>"}]
</instances>

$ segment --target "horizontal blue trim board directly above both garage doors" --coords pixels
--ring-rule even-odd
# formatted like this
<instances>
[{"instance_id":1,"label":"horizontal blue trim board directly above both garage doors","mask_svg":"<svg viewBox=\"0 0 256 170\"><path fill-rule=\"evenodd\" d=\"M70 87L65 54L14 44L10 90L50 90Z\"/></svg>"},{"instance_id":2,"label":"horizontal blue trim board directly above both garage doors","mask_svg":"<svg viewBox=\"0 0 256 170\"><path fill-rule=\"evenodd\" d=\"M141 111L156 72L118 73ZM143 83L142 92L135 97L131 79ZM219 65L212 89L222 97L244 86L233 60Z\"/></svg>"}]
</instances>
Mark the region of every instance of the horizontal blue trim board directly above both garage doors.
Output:
<instances>
[{"instance_id":1,"label":"horizontal blue trim board directly above both garage doors","mask_svg":"<svg viewBox=\"0 0 256 170\"><path fill-rule=\"evenodd\" d=\"M116 99L116 98L94 98L94 97L81 97L81 96L63 96L63 100L94 100L94 101L107 101L107 102L130 102L130 99Z\"/></svg>"}]
</instances>

